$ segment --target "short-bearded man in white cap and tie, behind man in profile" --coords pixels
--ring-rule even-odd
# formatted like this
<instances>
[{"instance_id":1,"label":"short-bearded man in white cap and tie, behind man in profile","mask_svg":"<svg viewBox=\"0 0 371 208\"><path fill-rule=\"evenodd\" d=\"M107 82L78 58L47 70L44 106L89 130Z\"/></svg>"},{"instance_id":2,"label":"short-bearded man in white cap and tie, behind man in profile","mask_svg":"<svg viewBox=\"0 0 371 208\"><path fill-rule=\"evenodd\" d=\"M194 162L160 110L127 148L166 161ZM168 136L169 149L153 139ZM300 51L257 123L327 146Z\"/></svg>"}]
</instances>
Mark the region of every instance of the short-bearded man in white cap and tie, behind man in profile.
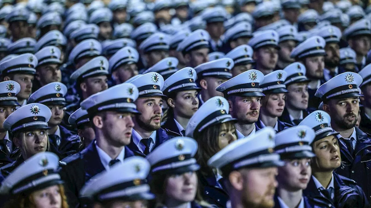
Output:
<instances>
[{"instance_id":1,"label":"short-bearded man in white cap and tie, behind man in profile","mask_svg":"<svg viewBox=\"0 0 371 208\"><path fill-rule=\"evenodd\" d=\"M133 118L131 142L128 147L135 155L146 157L154 148L169 139L167 132L161 128L162 104L166 96L161 89L164 78L150 72L131 81L138 90L139 98L135 101L140 115Z\"/></svg>"}]
</instances>

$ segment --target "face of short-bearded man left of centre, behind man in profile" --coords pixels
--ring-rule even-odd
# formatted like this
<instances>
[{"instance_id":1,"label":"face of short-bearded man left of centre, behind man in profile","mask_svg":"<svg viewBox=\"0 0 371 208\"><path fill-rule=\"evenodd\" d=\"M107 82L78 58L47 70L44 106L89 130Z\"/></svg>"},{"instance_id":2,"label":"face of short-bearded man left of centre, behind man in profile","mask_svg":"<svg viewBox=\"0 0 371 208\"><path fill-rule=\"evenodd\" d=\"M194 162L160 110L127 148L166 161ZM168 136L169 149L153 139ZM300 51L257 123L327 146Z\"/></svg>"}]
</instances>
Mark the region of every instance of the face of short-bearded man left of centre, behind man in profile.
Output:
<instances>
[{"instance_id":1,"label":"face of short-bearded man left of centre, behind man in profile","mask_svg":"<svg viewBox=\"0 0 371 208\"><path fill-rule=\"evenodd\" d=\"M155 131L161 127L162 103L161 97L138 98L137 110L141 115L135 116L136 127L147 131Z\"/></svg>"}]
</instances>

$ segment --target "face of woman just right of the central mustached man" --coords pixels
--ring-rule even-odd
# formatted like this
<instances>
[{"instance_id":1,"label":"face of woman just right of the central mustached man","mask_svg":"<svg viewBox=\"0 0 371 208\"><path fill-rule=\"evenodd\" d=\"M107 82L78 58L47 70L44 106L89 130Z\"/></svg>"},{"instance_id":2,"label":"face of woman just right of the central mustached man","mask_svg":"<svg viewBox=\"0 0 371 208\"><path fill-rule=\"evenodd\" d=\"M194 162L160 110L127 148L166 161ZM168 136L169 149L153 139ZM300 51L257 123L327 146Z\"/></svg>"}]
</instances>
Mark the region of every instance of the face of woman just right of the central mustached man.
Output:
<instances>
[{"instance_id":1,"label":"face of woman just right of the central mustached man","mask_svg":"<svg viewBox=\"0 0 371 208\"><path fill-rule=\"evenodd\" d=\"M262 99L262 108L260 110L269 116L280 117L283 113L283 108L285 108L285 93L278 94L266 94Z\"/></svg>"}]
</instances>

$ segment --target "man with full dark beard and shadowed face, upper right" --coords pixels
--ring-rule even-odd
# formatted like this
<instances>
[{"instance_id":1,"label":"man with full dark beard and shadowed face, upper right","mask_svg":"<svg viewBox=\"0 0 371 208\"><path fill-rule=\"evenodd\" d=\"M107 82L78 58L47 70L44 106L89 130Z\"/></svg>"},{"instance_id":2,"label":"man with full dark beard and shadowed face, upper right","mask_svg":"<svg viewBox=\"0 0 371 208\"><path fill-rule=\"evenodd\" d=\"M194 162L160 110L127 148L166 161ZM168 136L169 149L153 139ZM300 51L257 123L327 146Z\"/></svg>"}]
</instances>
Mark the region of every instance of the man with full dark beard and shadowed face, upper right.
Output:
<instances>
[{"instance_id":1,"label":"man with full dark beard and shadowed face, upper right","mask_svg":"<svg viewBox=\"0 0 371 208\"><path fill-rule=\"evenodd\" d=\"M329 25L322 27L317 34L326 41L324 78L328 81L339 74L341 30L338 27Z\"/></svg>"}]
</instances>

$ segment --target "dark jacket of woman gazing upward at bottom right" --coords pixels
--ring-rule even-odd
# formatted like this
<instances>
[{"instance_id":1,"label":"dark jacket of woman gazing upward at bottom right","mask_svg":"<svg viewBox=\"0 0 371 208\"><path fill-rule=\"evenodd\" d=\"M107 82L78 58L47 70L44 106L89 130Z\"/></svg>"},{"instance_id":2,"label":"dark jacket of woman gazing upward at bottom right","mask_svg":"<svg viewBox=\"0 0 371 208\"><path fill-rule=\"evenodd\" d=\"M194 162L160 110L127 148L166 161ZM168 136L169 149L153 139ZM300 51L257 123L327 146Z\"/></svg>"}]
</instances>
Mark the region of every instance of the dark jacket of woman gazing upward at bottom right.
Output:
<instances>
[{"instance_id":1,"label":"dark jacket of woman gazing upward at bottom right","mask_svg":"<svg viewBox=\"0 0 371 208\"><path fill-rule=\"evenodd\" d=\"M305 196L308 197L309 201L320 199L321 201L331 204L331 207L336 208L368 208L370 204L356 182L349 178L345 178L339 174L333 173L334 175L334 199L322 197L318 191L313 178L308 183L307 188L303 191ZM327 199L327 200L326 200ZM328 206L330 207L330 206Z\"/></svg>"}]
</instances>

